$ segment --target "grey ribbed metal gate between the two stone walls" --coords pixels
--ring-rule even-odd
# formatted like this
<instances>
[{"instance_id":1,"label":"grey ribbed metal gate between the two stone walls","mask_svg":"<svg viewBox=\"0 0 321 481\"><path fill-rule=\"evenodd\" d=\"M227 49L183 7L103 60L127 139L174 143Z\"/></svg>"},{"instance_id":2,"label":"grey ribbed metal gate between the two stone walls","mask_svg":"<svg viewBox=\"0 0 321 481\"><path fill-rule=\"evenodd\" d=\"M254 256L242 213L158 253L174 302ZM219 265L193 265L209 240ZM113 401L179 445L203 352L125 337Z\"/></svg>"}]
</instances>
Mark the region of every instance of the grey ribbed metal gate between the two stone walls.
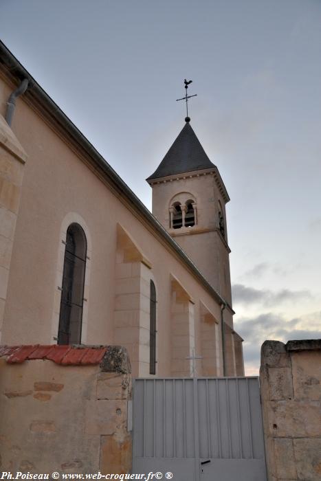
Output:
<instances>
[{"instance_id":1,"label":"grey ribbed metal gate between the two stone walls","mask_svg":"<svg viewBox=\"0 0 321 481\"><path fill-rule=\"evenodd\" d=\"M133 473L150 471L266 481L258 378L135 379Z\"/></svg>"}]
</instances>

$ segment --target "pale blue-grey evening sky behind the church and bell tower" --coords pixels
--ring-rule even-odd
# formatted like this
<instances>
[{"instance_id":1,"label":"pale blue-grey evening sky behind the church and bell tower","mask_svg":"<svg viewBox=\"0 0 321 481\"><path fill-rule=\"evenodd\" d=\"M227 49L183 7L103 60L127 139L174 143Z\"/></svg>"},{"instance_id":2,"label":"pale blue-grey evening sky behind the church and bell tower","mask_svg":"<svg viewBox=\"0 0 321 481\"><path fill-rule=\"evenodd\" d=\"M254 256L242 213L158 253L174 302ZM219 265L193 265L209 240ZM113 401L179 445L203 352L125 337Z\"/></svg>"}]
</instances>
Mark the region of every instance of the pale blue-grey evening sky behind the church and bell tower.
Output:
<instances>
[{"instance_id":1,"label":"pale blue-grey evening sky behind the church and bell tower","mask_svg":"<svg viewBox=\"0 0 321 481\"><path fill-rule=\"evenodd\" d=\"M1 0L0 38L150 210L192 79L245 372L265 339L321 337L320 0Z\"/></svg>"}]
</instances>

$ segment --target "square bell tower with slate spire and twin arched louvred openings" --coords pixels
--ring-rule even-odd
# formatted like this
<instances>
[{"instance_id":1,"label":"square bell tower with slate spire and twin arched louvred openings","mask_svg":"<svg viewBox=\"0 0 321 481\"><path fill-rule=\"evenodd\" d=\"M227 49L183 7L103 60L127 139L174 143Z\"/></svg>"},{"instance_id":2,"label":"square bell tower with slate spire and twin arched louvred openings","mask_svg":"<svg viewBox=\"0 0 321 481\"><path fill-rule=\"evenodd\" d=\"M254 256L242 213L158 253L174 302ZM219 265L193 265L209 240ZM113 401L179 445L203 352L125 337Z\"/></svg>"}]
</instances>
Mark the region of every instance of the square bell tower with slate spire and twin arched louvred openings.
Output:
<instances>
[{"instance_id":1,"label":"square bell tower with slate spire and twin arched louvred openings","mask_svg":"<svg viewBox=\"0 0 321 481\"><path fill-rule=\"evenodd\" d=\"M146 181L153 189L157 220L232 306L225 212L230 197L217 166L190 126L190 118Z\"/></svg>"}]
</instances>

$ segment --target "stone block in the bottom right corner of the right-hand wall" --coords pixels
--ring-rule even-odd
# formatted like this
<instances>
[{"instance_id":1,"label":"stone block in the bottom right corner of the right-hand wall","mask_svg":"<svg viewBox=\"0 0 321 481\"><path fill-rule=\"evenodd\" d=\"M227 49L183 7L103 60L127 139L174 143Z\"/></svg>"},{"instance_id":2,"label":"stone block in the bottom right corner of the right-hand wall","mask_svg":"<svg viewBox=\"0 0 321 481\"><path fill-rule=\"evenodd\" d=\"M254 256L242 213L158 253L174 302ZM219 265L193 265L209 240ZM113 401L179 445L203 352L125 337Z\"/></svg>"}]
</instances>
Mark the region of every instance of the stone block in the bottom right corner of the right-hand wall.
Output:
<instances>
[{"instance_id":1,"label":"stone block in the bottom right corner of the right-hand wall","mask_svg":"<svg viewBox=\"0 0 321 481\"><path fill-rule=\"evenodd\" d=\"M298 480L320 481L321 439L294 439Z\"/></svg>"}]
</instances>

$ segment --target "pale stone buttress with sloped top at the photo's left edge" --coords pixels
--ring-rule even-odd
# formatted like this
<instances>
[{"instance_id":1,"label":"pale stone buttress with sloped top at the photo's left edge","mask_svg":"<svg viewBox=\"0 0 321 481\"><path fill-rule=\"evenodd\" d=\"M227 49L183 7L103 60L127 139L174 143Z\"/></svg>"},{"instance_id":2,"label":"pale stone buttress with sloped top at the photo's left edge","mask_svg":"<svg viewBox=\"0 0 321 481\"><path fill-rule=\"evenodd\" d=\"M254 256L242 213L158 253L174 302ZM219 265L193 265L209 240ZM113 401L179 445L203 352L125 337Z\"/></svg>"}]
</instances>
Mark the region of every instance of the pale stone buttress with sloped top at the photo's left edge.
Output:
<instances>
[{"instance_id":1,"label":"pale stone buttress with sloped top at the photo's left edge","mask_svg":"<svg viewBox=\"0 0 321 481\"><path fill-rule=\"evenodd\" d=\"M26 160L27 154L0 115L0 340Z\"/></svg>"}]
</instances>

